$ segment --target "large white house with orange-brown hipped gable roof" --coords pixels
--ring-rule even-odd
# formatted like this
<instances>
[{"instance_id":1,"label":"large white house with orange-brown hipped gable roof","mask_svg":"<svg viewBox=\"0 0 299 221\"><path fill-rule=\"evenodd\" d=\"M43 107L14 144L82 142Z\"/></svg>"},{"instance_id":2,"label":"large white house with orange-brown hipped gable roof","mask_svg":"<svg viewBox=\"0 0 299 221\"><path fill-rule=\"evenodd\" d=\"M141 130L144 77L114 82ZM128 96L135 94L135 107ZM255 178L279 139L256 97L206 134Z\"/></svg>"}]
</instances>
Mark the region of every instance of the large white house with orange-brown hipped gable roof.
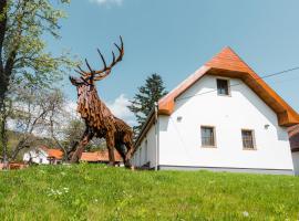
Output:
<instances>
[{"instance_id":1,"label":"large white house with orange-brown hipped gable roof","mask_svg":"<svg viewBox=\"0 0 299 221\"><path fill-rule=\"evenodd\" d=\"M298 123L299 115L225 48L158 102L132 164L292 175L287 128Z\"/></svg>"}]
</instances>

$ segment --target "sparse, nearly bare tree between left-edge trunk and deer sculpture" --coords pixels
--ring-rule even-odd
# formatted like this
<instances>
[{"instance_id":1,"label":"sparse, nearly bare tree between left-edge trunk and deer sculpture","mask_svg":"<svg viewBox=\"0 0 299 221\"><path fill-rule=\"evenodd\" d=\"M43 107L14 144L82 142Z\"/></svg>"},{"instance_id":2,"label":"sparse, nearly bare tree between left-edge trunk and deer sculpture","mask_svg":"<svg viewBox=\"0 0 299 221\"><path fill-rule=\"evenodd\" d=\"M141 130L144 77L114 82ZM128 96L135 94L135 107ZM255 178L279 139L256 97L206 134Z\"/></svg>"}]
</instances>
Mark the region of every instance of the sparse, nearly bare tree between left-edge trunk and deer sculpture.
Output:
<instances>
[{"instance_id":1,"label":"sparse, nearly bare tree between left-edge trunk and deer sculpture","mask_svg":"<svg viewBox=\"0 0 299 221\"><path fill-rule=\"evenodd\" d=\"M63 119L63 94L59 90L24 86L16 90L13 97L9 119L19 136L11 151L7 151L9 160L16 160L22 149L44 141L44 137L59 144L54 128L59 130Z\"/></svg>"}]
</instances>

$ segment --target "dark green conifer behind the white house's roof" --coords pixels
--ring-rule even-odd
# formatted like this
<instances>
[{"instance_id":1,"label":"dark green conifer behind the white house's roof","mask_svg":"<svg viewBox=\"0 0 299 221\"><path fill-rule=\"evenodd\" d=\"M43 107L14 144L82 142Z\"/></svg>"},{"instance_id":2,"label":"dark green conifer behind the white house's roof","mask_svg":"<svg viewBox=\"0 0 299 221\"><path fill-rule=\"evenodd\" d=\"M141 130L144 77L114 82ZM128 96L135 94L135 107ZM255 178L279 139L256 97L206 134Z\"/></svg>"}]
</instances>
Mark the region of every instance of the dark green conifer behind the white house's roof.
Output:
<instances>
[{"instance_id":1,"label":"dark green conifer behind the white house's roof","mask_svg":"<svg viewBox=\"0 0 299 221\"><path fill-rule=\"evenodd\" d=\"M154 104L166 94L167 92L165 91L163 80L158 74L152 74L145 80L145 84L138 87L138 92L128 106L130 110L135 114L138 123L138 125L134 127L135 137L142 129L146 117L154 108Z\"/></svg>"}]
</instances>

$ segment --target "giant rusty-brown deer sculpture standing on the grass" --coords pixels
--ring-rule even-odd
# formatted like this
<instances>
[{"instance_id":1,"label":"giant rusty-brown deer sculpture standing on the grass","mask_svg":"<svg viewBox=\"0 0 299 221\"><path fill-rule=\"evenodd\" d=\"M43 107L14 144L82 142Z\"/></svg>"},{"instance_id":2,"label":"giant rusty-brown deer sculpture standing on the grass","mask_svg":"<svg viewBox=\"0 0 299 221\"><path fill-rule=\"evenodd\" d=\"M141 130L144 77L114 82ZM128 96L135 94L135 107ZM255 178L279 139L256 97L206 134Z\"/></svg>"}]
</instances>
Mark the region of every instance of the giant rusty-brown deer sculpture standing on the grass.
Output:
<instances>
[{"instance_id":1,"label":"giant rusty-brown deer sculpture standing on the grass","mask_svg":"<svg viewBox=\"0 0 299 221\"><path fill-rule=\"evenodd\" d=\"M121 36L120 36L121 38ZM133 131L131 127L122 119L115 117L107 106L100 99L94 83L106 77L112 67L122 61L124 55L123 40L121 45L114 43L120 55L115 57L112 51L113 60L106 65L104 56L97 50L104 67L102 70L93 70L85 60L89 71L83 71L80 66L75 70L81 77L70 76L71 83L76 86L78 91L78 112L85 122L86 129L79 143L76 150L73 152L71 161L79 161L85 146L93 137L105 138L109 149L110 165L114 165L114 148L122 156L126 167L131 167L130 157L133 150Z\"/></svg>"}]
</instances>

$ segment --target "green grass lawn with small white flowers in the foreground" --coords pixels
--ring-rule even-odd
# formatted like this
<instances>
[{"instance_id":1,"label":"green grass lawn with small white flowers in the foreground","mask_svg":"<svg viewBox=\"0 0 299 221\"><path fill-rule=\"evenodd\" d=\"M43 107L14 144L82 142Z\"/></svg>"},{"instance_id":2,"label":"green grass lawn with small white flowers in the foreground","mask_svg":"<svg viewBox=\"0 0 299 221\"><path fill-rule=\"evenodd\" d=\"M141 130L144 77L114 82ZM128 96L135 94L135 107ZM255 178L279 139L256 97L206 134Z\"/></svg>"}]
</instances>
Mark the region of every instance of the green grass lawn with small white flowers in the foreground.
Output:
<instances>
[{"instance_id":1,"label":"green grass lawn with small white flowers in the foreground","mask_svg":"<svg viewBox=\"0 0 299 221\"><path fill-rule=\"evenodd\" d=\"M0 220L299 220L299 178L85 164L1 171Z\"/></svg>"}]
</instances>

